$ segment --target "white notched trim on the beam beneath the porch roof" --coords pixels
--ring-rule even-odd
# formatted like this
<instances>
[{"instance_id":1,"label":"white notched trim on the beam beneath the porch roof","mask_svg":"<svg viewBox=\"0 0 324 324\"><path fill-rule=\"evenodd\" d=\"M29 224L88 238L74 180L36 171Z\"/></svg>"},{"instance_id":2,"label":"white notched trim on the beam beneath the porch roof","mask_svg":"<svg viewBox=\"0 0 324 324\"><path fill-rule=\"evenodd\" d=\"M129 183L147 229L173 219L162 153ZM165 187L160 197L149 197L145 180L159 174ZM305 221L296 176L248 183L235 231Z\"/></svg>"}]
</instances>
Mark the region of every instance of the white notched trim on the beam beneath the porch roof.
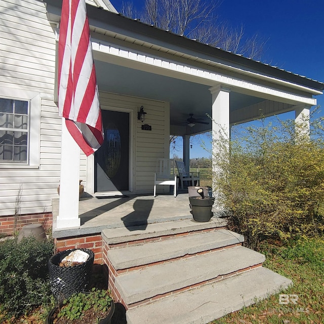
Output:
<instances>
[{"instance_id":1,"label":"white notched trim on the beam beneath the porch roof","mask_svg":"<svg viewBox=\"0 0 324 324\"><path fill-rule=\"evenodd\" d=\"M227 76L225 74L226 72L224 74L220 74L219 72L213 72L212 70L207 70L206 68L197 68L189 65L190 61L188 61L189 64L180 64L179 62L162 59L158 56L148 55L146 53L138 53L122 47L116 47L112 44L108 44L96 39L92 39L92 48L94 58L98 60L114 64L123 64L124 66L131 68L141 69L166 76L178 77L184 80L199 82L209 86L214 86L217 83L220 83L235 89L236 92L254 95L258 93L259 96L264 99L273 100L276 98L281 102L295 104L305 103L311 106L316 105L316 99L297 95L292 92L290 93L287 91L282 91L279 89L280 86L298 89L299 91L307 93L321 94L319 91L255 72L248 72L234 67L232 68L233 70L240 71L239 74L251 74L254 76L254 78L266 79L270 84L272 83L277 85L278 88L257 84L256 82L251 82L242 78ZM109 56L102 54L109 54Z\"/></svg>"}]
</instances>

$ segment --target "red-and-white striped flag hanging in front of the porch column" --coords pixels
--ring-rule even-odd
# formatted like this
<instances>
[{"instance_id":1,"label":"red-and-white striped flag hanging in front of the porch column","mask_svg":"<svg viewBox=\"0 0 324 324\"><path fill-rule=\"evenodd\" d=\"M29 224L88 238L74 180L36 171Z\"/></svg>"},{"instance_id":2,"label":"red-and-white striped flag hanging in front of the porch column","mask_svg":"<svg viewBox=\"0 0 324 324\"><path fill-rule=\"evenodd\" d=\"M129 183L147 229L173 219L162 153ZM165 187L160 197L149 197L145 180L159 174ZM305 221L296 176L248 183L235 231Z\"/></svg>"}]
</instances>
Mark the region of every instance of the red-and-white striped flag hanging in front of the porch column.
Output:
<instances>
[{"instance_id":1,"label":"red-and-white striped flag hanging in front of the porch column","mask_svg":"<svg viewBox=\"0 0 324 324\"><path fill-rule=\"evenodd\" d=\"M103 143L103 129L85 0L63 0L58 58L59 115L88 156Z\"/></svg>"}]
</instances>

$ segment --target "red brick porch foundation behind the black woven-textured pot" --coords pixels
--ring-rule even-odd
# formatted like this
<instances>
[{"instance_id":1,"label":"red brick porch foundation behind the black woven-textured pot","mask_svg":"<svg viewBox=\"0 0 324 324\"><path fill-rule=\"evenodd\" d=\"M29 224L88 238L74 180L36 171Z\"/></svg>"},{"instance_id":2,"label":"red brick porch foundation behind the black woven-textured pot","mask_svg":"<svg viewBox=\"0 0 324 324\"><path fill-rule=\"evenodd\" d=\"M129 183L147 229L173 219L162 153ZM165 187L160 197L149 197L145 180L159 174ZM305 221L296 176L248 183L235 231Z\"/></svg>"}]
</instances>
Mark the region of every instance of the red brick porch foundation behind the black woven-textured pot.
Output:
<instances>
[{"instance_id":1,"label":"red brick porch foundation behind the black woven-textured pot","mask_svg":"<svg viewBox=\"0 0 324 324\"><path fill-rule=\"evenodd\" d=\"M55 238L55 246L57 252L68 249L90 249L95 254L94 263L102 264L102 236L100 233Z\"/></svg>"}]
</instances>

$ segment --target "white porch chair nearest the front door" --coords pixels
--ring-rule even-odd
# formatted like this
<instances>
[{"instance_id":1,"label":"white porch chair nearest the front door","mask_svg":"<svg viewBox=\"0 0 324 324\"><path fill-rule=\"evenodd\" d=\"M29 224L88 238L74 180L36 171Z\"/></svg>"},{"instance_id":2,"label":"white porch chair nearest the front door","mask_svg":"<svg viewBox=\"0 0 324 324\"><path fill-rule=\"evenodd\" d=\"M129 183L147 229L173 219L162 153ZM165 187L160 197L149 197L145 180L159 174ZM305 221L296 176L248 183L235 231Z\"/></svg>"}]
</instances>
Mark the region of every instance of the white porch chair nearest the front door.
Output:
<instances>
[{"instance_id":1,"label":"white porch chair nearest the front door","mask_svg":"<svg viewBox=\"0 0 324 324\"><path fill-rule=\"evenodd\" d=\"M156 173L154 173L154 197L156 197L156 185L172 185L174 196L177 196L177 175L173 159L158 158L156 161Z\"/></svg>"}]
</instances>

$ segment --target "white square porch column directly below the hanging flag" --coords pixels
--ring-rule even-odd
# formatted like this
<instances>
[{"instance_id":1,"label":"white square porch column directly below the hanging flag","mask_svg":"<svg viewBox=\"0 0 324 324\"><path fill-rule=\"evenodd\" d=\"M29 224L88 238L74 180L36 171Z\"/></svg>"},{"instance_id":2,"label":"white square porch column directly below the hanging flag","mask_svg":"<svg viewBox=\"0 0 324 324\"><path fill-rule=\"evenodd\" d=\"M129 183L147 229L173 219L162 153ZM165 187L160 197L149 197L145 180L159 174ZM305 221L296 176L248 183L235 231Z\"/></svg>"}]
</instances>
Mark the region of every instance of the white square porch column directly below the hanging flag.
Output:
<instances>
[{"instance_id":1,"label":"white square porch column directly below the hanging flag","mask_svg":"<svg viewBox=\"0 0 324 324\"><path fill-rule=\"evenodd\" d=\"M62 149L59 215L57 228L80 226L79 174L80 148L70 135L62 118Z\"/></svg>"}]
</instances>

